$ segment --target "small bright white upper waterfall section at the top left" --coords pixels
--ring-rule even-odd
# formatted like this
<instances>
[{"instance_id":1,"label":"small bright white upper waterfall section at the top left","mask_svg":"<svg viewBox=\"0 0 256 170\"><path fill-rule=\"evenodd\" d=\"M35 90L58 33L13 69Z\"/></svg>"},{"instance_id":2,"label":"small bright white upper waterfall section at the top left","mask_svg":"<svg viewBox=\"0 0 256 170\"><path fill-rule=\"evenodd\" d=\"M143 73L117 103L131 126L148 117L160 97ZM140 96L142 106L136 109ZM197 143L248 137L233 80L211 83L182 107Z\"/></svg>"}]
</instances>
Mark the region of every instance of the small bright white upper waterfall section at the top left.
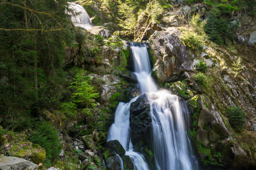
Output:
<instances>
[{"instance_id":1,"label":"small bright white upper waterfall section at the top left","mask_svg":"<svg viewBox=\"0 0 256 170\"><path fill-rule=\"evenodd\" d=\"M73 10L73 13L69 14L72 15L71 21L76 27L82 27L86 30L89 30L93 27L90 21L90 17L84 7L75 2L69 2L69 8Z\"/></svg>"}]
</instances>

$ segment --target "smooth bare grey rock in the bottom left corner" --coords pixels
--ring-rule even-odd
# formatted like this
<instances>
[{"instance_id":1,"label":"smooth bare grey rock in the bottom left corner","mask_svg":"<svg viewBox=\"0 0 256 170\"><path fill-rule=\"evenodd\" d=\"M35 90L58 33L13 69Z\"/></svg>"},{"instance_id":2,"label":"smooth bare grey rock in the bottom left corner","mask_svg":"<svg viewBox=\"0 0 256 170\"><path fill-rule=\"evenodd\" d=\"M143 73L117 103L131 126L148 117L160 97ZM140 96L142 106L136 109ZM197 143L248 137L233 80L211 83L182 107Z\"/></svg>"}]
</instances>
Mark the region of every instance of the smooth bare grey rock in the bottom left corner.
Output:
<instances>
[{"instance_id":1,"label":"smooth bare grey rock in the bottom left corner","mask_svg":"<svg viewBox=\"0 0 256 170\"><path fill-rule=\"evenodd\" d=\"M38 165L22 158L0 156L1 170L36 170L37 168Z\"/></svg>"}]
</instances>

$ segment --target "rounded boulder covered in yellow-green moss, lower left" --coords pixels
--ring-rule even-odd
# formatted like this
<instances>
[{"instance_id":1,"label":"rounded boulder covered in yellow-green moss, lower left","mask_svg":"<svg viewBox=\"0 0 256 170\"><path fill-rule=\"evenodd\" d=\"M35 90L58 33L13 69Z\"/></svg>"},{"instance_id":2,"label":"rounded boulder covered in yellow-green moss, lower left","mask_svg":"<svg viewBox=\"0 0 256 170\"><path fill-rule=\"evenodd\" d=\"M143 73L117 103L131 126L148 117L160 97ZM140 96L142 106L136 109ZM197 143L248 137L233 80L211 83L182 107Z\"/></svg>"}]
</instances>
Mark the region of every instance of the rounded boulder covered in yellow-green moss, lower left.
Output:
<instances>
[{"instance_id":1,"label":"rounded boulder covered in yellow-green moss, lower left","mask_svg":"<svg viewBox=\"0 0 256 170\"><path fill-rule=\"evenodd\" d=\"M41 148L38 144L32 144L31 142L13 144L10 155L32 161L36 164L43 163L46 158L44 148Z\"/></svg>"}]
</instances>

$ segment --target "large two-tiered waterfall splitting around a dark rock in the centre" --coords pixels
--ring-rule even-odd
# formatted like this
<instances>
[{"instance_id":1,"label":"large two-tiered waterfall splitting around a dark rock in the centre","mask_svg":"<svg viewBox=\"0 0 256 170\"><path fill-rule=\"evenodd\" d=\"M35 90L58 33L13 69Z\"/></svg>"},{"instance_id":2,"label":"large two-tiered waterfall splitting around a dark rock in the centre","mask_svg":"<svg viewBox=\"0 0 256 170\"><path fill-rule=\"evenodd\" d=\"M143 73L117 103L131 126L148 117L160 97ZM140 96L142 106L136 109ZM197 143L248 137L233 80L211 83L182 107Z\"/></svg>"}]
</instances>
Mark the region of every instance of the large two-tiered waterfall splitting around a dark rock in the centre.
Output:
<instances>
[{"instance_id":1,"label":"large two-tiered waterfall splitting around a dark rock in the centre","mask_svg":"<svg viewBox=\"0 0 256 170\"><path fill-rule=\"evenodd\" d=\"M187 135L185 120L188 120L187 106L177 95L167 90L158 90L151 77L151 66L146 45L131 42L135 74L142 94L146 94L151 119L151 141L154 154L154 169L197 170L197 159ZM141 95L140 95L141 96ZM120 102L115 111L107 141L118 140L130 156L135 170L149 170L148 163L139 150L133 149L133 131L130 128L130 107L140 96L128 103ZM139 99L138 99L139 100Z\"/></svg>"}]
</instances>

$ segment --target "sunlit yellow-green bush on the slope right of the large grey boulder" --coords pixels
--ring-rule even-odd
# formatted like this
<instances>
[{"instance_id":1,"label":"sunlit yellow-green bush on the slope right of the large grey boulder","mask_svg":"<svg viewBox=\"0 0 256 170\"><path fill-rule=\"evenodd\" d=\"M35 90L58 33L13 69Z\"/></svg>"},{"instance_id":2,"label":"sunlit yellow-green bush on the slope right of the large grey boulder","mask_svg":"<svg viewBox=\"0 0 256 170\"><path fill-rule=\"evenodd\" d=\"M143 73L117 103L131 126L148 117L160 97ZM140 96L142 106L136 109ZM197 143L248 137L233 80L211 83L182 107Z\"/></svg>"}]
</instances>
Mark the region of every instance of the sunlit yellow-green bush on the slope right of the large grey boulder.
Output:
<instances>
[{"instance_id":1,"label":"sunlit yellow-green bush on the slope right of the large grey boulder","mask_svg":"<svg viewBox=\"0 0 256 170\"><path fill-rule=\"evenodd\" d=\"M185 32L184 36L182 37L182 40L187 47L190 47L193 50L203 50L204 39L202 36L198 35L195 32Z\"/></svg>"}]
</instances>

